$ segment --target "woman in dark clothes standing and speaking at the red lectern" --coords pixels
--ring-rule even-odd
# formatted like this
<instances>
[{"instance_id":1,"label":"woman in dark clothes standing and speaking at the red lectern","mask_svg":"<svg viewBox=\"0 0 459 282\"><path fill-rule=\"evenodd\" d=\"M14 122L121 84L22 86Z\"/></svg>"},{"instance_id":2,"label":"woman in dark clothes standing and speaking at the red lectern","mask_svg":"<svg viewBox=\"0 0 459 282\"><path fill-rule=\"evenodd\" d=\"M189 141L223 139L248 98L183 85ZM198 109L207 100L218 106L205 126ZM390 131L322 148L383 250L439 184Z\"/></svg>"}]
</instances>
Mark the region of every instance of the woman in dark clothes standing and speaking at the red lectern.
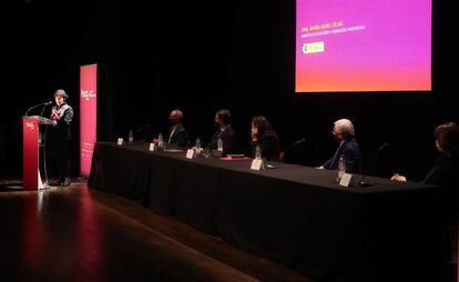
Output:
<instances>
[{"instance_id":1,"label":"woman in dark clothes standing and speaking at the red lectern","mask_svg":"<svg viewBox=\"0 0 459 282\"><path fill-rule=\"evenodd\" d=\"M54 161L59 179L52 185L68 187L70 180L70 144L72 140L71 124L73 109L67 103L69 95L64 90L54 92L55 105L51 111L53 122L50 134L50 158Z\"/></svg>"}]
</instances>

